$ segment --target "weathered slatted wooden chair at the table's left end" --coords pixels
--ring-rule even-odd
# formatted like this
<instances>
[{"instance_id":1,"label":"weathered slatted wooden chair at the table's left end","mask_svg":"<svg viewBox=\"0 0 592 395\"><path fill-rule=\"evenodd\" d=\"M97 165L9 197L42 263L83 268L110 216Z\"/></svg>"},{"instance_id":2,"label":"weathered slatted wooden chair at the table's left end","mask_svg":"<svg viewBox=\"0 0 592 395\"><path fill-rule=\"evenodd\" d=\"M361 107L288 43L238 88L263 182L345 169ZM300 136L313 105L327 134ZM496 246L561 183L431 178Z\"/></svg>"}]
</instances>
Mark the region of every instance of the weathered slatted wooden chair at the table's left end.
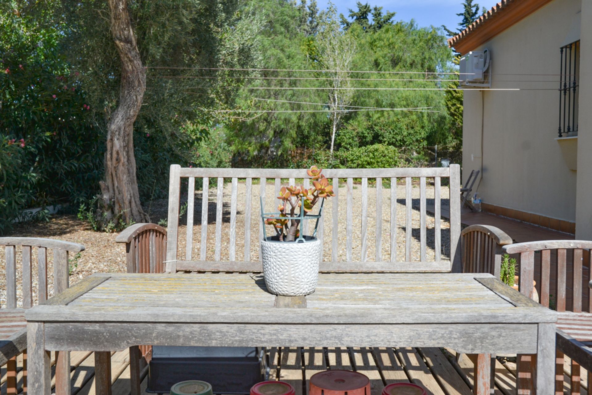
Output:
<instances>
[{"instance_id":1,"label":"weathered slatted wooden chair at the table's left end","mask_svg":"<svg viewBox=\"0 0 592 395\"><path fill-rule=\"evenodd\" d=\"M27 392L27 325L26 309L47 300L51 290L59 294L69 285L69 252L84 251L78 243L34 237L0 237L4 246L6 265L6 305L0 309L0 365L7 364L8 393L18 393L17 356L22 354L22 390ZM21 247L21 259L17 260L17 247ZM36 248L34 254L33 248ZM53 250L53 284L48 282L47 249ZM34 274L33 258L37 255L37 275ZM20 265L17 265L19 261ZM33 287L37 280L37 287ZM20 285L20 292L18 288ZM35 292L34 290L37 290ZM17 297L18 296L18 297ZM22 301L19 299L22 296ZM56 353L56 392L70 393L70 354Z\"/></svg>"}]
</instances>

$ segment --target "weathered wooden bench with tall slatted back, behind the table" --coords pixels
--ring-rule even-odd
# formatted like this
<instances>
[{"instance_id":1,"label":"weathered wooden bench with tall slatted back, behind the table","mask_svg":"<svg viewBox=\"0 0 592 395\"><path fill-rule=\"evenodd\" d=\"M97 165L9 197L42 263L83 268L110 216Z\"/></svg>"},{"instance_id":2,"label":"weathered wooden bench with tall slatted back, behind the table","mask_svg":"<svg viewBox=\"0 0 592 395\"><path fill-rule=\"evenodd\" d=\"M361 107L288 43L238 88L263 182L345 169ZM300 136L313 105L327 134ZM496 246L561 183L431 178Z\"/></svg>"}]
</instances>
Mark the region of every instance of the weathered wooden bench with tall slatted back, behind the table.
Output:
<instances>
[{"instance_id":1,"label":"weathered wooden bench with tall slatted back, behind the table","mask_svg":"<svg viewBox=\"0 0 592 395\"><path fill-rule=\"evenodd\" d=\"M321 272L461 272L461 182L460 166L451 165L449 168L388 168L388 169L325 169L323 174L332 181L333 185L341 183L342 188L334 188L336 196L326 205L321 219L318 237L324 245L323 262L320 262ZM448 196L440 195L442 178L449 178ZM210 182L215 179L215 192L210 193ZM239 179L244 180L244 210L239 211ZM270 179L273 185L268 184ZM282 181L284 179L284 181ZM259 218L259 201L253 201L253 188L259 189L263 202L268 209L273 210L276 205L275 197L282 184L298 184L304 187L310 185L310 179L303 169L216 169L216 168L181 168L179 165L170 166L168 227L165 231L156 224L134 224L124 230L116 242L126 244L126 259L128 272L261 272L259 243L252 246L252 229L258 229L262 239L263 225ZM354 187L353 179L359 179L361 185ZM375 181L374 196L369 196L368 182ZM383 194L382 181L390 179L390 191ZM413 184L413 179L418 185ZM287 180L287 181L286 181ZM225 181L230 181L230 188L224 189ZM435 185L433 215L433 254L427 253L428 227L427 220L431 216L427 212L427 182ZM201 198L195 194L196 185L203 185ZM255 185L253 185L255 184ZM343 186L345 185L345 188ZM413 200L413 188L419 187L419 201ZM354 207L354 188L360 188L361 204ZM230 189L230 196L228 196ZM397 191L404 191L404 198L398 203L404 208L397 207ZM345 196L343 196L345 194ZM387 195L387 196L384 196ZM199 196L199 195L198 195ZM376 201L376 213L368 210L368 199ZM383 201L388 200L388 208L383 207ZM432 195L430 195L430 199ZM181 201L183 200L183 201ZM442 200L449 200L450 227L442 227L440 219ZM195 213L201 207L201 215L195 221ZM241 208L243 208L241 207ZM181 224L181 213L186 208L186 221ZM253 210L255 208L255 210ZM419 213L414 212L419 208ZM215 210L214 232L208 229L210 210ZM345 210L345 218L339 216ZM397 220L397 213L403 210L404 220ZM386 212L385 212L386 211ZM390 215L388 215L389 213ZM244 214L242 229L237 229L237 216ZM383 216L383 214L387 214ZM230 226L223 226L225 221ZM229 217L229 218L228 218ZM374 217L374 233L372 240L368 236L368 218ZM419 217L419 229L413 229L413 220ZM432 219L429 219L432 221ZM211 221L211 219L210 219ZM330 221L331 227L324 229L323 223ZM312 222L312 221L309 221ZM401 223L402 222L402 223ZM431 223L431 222L430 222ZM384 224L384 226L383 226ZM185 225L184 229L180 226ZM199 226L197 235L194 226ZM312 224L309 224L312 226ZM345 228L345 240L339 239L338 230ZM404 229L400 229L403 227ZM417 225L416 225L417 227ZM485 228L483 228L485 229ZM329 243L323 233L332 232ZM430 232L432 230L430 229ZM256 231L255 231L256 232ZM400 246L397 235L403 232L404 245ZM443 243L442 234L449 232L448 242ZM384 233L384 237L383 237ZM388 235L387 235L388 233ZM490 229L492 237L497 231ZM244 240L244 249L237 250L237 237ZM184 248L179 248L179 238L185 242ZM213 251L208 249L208 238L214 237ZM494 237L495 238L495 237ZM384 239L384 240L383 240ZM413 239L419 239L419 253L411 251ZM507 240L504 237L498 238ZM323 242L323 240L326 240ZM376 240L374 242L374 240ZM483 239L485 241L485 239ZM255 243L255 240L253 240ZM374 253L369 251L370 243L374 243ZM383 253L383 243L390 248ZM194 245L198 244L198 248ZM354 249L354 245L360 246ZM477 245L475 245L477 246ZM252 248L253 247L253 248ZM497 251L497 249L496 249ZM355 252L355 253L354 253ZM468 270L468 266L467 266ZM134 355L146 354L149 348L139 353L133 347ZM130 349L131 352L131 349ZM489 365L481 358L480 362ZM138 358L131 358L132 372L139 372ZM134 373L133 373L134 374ZM139 383L139 381L137 381ZM134 384L133 384L134 385ZM133 387L134 388L134 387ZM132 394L137 394L132 391Z\"/></svg>"}]
</instances>

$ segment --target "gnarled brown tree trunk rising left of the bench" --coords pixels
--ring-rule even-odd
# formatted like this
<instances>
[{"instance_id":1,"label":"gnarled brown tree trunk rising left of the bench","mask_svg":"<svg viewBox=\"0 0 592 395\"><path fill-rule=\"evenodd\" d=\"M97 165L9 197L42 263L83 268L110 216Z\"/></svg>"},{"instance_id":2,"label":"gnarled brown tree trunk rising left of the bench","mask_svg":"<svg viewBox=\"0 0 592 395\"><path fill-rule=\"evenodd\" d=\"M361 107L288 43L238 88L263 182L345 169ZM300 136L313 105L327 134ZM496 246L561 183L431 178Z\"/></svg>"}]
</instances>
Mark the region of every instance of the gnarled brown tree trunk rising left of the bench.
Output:
<instances>
[{"instance_id":1,"label":"gnarled brown tree trunk rising left of the bench","mask_svg":"<svg viewBox=\"0 0 592 395\"><path fill-rule=\"evenodd\" d=\"M127 0L108 0L111 34L121 58L119 104L107 125L105 181L101 182L107 219L149 221L140 204L134 158L133 127L146 89L146 70L142 66L136 37L131 27Z\"/></svg>"}]
</instances>

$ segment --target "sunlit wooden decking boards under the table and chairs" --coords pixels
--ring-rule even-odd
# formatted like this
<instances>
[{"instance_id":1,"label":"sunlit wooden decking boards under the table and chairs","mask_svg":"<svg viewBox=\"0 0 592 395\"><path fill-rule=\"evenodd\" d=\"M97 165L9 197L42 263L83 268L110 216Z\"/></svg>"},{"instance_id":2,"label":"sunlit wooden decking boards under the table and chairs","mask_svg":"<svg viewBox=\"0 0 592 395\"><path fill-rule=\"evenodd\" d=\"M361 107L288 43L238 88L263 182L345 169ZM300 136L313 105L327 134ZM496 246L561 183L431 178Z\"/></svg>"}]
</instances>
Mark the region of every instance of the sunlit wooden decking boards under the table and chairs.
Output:
<instances>
[{"instance_id":1,"label":"sunlit wooden decking boards under the table and chairs","mask_svg":"<svg viewBox=\"0 0 592 395\"><path fill-rule=\"evenodd\" d=\"M509 334L511 336L511 334ZM53 357L53 353L52 353ZM372 395L379 395L385 384L413 382L427 388L433 395L470 395L473 363L463 356L456 362L450 349L438 348L283 348L268 354L271 380L283 380L296 388L297 395L306 395L308 380L316 372L327 369L356 370L371 380ZM72 352L72 395L95 395L94 355ZM565 361L565 390L568 390L569 367ZM112 395L130 394L130 359L128 351L112 353ZM496 395L516 393L515 365L496 363ZM142 372L142 394L146 393L147 368ZM581 372L582 395L587 395L587 372ZM2 367L1 392L7 393L6 366ZM22 392L22 355L18 358L19 393Z\"/></svg>"}]
</instances>

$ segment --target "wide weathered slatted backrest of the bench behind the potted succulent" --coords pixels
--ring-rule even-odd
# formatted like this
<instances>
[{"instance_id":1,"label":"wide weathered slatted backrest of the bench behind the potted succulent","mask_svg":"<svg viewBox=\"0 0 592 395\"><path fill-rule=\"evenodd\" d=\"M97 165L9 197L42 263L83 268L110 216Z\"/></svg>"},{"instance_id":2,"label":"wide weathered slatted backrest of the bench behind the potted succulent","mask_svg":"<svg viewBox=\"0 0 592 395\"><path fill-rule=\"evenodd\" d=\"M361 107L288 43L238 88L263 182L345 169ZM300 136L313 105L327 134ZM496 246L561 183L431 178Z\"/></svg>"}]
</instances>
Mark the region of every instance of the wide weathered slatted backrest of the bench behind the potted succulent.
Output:
<instances>
[{"instance_id":1,"label":"wide weathered slatted backrest of the bench behind the potted succulent","mask_svg":"<svg viewBox=\"0 0 592 395\"><path fill-rule=\"evenodd\" d=\"M323 175L332 181L336 196L326 200L318 228L317 236L324 246L325 262L321 264L321 271L323 268L336 271L461 270L459 165L449 168L324 169ZM445 193L446 196L440 192L440 187L445 184L443 178L448 178L449 191L452 191ZM214 179L215 196L210 193ZM273 185L268 184L270 179ZM226 190L225 180L230 181ZM375 187L372 187L372 181ZM390 191L385 190L388 188L383 187L383 182L390 182ZM428 182L433 184L429 195ZM216 264L220 261L237 262L228 267L229 271L260 268L260 264L247 265L248 262L258 263L260 259L258 240L263 237L263 224L259 216L259 196L263 197L266 211L274 211L275 197L282 184L308 187L310 178L304 169L170 166L168 271L223 270ZM196 185L202 186L199 203L196 203ZM372 192L374 201L369 201ZM389 206L386 210L383 207L385 201ZM430 210L434 215L429 213L428 205L432 206ZM196 220L194 217L200 207L201 215ZM449 210L449 226L440 220L442 210ZM186 227L180 229L179 217L184 213ZM312 222L308 220L309 227L314 226ZM371 226L372 222L374 226ZM207 223L215 225L208 229ZM195 236L194 227L198 227ZM212 237L214 243L208 243ZM240 251L237 249L238 237L244 246ZM369 252L372 245L374 253ZM367 263L339 264L353 261Z\"/></svg>"}]
</instances>

